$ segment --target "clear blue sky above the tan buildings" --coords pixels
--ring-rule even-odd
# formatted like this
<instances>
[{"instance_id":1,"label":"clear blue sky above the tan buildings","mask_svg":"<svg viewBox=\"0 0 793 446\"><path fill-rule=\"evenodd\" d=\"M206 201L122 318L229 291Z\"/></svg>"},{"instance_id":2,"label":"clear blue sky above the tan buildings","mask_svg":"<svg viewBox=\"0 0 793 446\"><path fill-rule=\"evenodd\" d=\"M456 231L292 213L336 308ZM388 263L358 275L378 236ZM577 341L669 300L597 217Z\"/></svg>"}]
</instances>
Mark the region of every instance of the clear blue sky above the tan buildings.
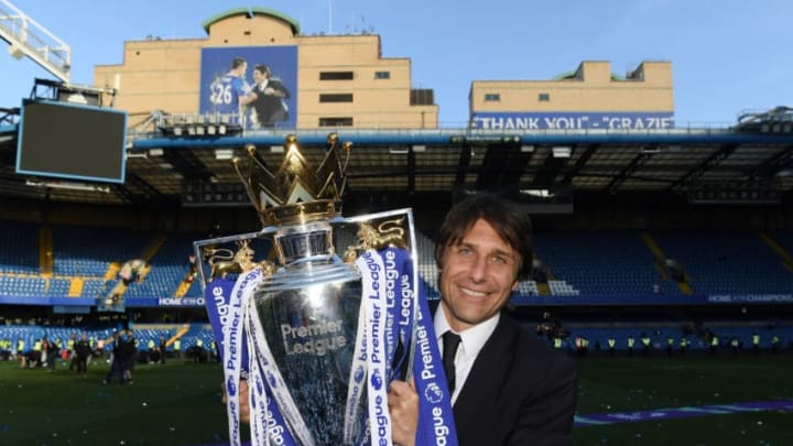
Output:
<instances>
[{"instance_id":1,"label":"clear blue sky above the tan buildings","mask_svg":"<svg viewBox=\"0 0 793 446\"><path fill-rule=\"evenodd\" d=\"M677 127L727 127L742 112L793 107L791 0L0 0L72 48L72 83L120 64L126 41L205 37L202 23L235 8L268 8L303 34L380 35L383 57L412 61L442 127L465 127L474 80L547 80L583 61L623 76L643 61L672 64ZM0 45L4 42L0 41ZM0 52L0 107L19 107L35 78L54 77Z\"/></svg>"}]
</instances>

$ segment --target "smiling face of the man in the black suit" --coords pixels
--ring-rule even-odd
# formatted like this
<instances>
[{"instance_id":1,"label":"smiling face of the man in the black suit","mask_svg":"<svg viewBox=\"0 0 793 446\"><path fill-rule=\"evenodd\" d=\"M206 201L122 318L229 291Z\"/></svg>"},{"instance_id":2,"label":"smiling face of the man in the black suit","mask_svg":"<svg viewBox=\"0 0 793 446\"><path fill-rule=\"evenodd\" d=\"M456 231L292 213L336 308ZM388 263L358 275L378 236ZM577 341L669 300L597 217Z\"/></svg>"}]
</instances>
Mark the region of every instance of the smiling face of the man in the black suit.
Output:
<instances>
[{"instance_id":1,"label":"smiling face of the man in the black suit","mask_svg":"<svg viewBox=\"0 0 793 446\"><path fill-rule=\"evenodd\" d=\"M441 295L449 326L461 331L496 315L518 286L520 254L477 220L441 259Z\"/></svg>"}]
</instances>

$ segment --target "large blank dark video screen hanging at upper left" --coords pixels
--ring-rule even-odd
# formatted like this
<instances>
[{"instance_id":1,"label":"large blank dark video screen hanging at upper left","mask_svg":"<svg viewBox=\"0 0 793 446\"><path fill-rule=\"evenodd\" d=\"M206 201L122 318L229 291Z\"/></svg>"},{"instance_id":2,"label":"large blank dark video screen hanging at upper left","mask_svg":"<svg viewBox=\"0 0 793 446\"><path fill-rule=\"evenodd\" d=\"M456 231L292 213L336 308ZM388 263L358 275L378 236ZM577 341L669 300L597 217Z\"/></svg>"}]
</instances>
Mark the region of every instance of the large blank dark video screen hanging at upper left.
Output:
<instances>
[{"instance_id":1,"label":"large blank dark video screen hanging at upper left","mask_svg":"<svg viewBox=\"0 0 793 446\"><path fill-rule=\"evenodd\" d=\"M123 183L127 113L55 101L22 104L17 173Z\"/></svg>"}]
</instances>

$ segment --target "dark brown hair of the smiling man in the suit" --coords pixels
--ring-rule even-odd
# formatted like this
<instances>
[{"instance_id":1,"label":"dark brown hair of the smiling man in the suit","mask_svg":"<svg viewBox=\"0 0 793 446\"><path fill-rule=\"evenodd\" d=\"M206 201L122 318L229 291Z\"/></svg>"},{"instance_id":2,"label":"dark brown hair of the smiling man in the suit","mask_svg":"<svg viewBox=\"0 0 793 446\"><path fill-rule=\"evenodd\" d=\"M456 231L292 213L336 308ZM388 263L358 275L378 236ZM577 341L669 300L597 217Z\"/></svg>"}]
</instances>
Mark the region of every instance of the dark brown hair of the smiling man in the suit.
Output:
<instances>
[{"instance_id":1,"label":"dark brown hair of the smiling man in the suit","mask_svg":"<svg viewBox=\"0 0 793 446\"><path fill-rule=\"evenodd\" d=\"M533 238L531 219L508 199L493 194L478 194L454 205L438 229L435 262L442 266L446 248L459 243L468 230L482 219L520 255L518 280L531 278Z\"/></svg>"}]
</instances>

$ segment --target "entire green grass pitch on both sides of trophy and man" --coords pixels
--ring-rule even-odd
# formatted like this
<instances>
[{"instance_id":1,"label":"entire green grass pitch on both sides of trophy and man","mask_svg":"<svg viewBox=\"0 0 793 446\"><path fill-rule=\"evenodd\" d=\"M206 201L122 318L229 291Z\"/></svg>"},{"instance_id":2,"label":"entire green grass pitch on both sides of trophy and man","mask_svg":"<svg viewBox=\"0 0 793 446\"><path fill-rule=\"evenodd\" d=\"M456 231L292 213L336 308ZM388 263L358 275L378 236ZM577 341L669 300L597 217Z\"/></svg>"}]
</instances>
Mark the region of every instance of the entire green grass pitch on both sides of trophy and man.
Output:
<instances>
[{"instance_id":1,"label":"entire green grass pitch on both sides of trophy and man","mask_svg":"<svg viewBox=\"0 0 793 446\"><path fill-rule=\"evenodd\" d=\"M126 387L102 385L107 370L102 361L83 378L0 362L0 445L194 446L227 437L218 365L137 365ZM793 400L789 353L586 358L579 376L579 418ZM793 445L793 412L728 412L577 426L575 444Z\"/></svg>"}]
</instances>

